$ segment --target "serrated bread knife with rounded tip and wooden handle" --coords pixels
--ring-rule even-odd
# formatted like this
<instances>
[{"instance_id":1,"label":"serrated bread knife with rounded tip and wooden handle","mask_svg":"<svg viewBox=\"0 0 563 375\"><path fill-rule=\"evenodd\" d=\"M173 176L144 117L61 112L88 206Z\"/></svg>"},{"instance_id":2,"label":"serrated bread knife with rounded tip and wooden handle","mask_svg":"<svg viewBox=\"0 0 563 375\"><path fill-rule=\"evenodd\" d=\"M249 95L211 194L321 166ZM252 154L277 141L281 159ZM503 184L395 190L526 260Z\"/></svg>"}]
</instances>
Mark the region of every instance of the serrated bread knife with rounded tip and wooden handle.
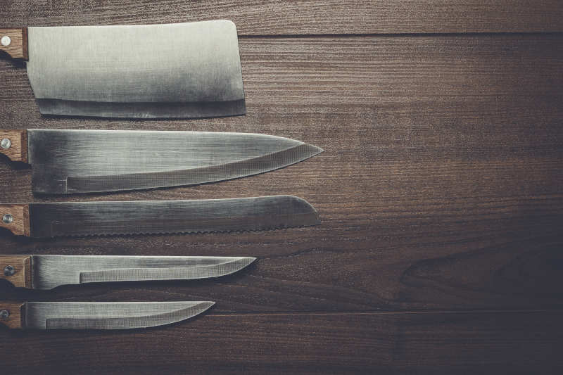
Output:
<instances>
[{"instance_id":1,"label":"serrated bread knife with rounded tip and wooden handle","mask_svg":"<svg viewBox=\"0 0 563 375\"><path fill-rule=\"evenodd\" d=\"M111 234L257 231L319 224L295 196L0 205L0 228L35 238Z\"/></svg>"}]
</instances>

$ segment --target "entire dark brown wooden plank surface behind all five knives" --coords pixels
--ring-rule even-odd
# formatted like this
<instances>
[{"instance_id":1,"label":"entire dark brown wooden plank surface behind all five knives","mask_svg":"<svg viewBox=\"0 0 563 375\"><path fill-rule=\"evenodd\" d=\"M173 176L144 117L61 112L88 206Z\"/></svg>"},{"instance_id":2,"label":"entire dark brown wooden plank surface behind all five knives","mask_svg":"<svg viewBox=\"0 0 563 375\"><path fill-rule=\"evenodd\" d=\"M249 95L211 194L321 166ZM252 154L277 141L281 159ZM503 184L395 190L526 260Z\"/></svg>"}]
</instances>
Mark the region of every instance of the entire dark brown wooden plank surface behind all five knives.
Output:
<instances>
[{"instance_id":1,"label":"entire dark brown wooden plank surface behind all five knives","mask_svg":"<svg viewBox=\"0 0 563 375\"><path fill-rule=\"evenodd\" d=\"M30 241L4 254L253 255L217 280L0 289L11 300L215 300L134 331L0 329L4 374L561 374L563 6L546 0L0 1L0 25L228 18L248 115L42 117L0 59L0 127L261 132L326 151L205 186L64 200L293 194L319 227ZM0 202L47 201L0 160Z\"/></svg>"}]
</instances>

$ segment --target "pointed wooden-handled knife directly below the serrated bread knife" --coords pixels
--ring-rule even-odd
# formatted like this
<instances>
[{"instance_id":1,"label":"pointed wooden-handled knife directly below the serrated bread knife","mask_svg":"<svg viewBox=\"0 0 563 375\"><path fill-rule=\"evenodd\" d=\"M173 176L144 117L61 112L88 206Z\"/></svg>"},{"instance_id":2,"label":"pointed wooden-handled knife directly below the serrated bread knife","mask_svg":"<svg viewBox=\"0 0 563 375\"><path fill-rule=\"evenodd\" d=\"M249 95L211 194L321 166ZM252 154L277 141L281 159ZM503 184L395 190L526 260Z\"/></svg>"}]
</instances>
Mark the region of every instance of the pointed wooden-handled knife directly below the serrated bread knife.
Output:
<instances>
[{"instance_id":1,"label":"pointed wooden-handled knife directly below the serrated bread knife","mask_svg":"<svg viewBox=\"0 0 563 375\"><path fill-rule=\"evenodd\" d=\"M52 289L108 281L190 280L220 277L256 258L107 255L0 255L0 279L18 288Z\"/></svg>"}]
</instances>

